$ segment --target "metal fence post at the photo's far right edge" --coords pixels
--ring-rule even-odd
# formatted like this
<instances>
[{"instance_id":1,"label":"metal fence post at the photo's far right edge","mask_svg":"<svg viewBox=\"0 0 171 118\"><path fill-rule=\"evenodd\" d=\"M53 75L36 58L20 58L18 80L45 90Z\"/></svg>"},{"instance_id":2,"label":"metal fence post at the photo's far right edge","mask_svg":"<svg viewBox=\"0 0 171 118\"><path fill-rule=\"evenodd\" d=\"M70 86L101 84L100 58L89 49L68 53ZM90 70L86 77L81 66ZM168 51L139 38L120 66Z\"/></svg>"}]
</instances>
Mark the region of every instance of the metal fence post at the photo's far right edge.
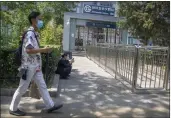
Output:
<instances>
[{"instance_id":1,"label":"metal fence post at the photo's far right edge","mask_svg":"<svg viewBox=\"0 0 171 118\"><path fill-rule=\"evenodd\" d=\"M164 84L166 90L168 90L169 76L170 76L170 47L168 48L166 70L164 75Z\"/></svg>"}]
</instances>

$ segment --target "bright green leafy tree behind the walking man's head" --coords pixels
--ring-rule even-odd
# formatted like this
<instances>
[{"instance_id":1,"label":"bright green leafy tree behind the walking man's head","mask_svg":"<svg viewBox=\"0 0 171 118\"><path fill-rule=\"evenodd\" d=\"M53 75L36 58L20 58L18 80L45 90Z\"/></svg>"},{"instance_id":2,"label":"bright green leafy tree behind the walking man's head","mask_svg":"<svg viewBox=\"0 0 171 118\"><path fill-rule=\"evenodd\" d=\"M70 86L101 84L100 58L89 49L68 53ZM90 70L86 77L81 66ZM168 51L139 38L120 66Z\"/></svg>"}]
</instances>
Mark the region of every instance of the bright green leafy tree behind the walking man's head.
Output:
<instances>
[{"instance_id":1,"label":"bright green leafy tree behind the walking man's head","mask_svg":"<svg viewBox=\"0 0 171 118\"><path fill-rule=\"evenodd\" d=\"M47 32L48 30L51 30L50 32L52 32L56 31L53 30L52 27L55 26L55 28L57 28L58 25L63 26L64 12L71 11L72 8L75 7L75 2L1 2L1 6L7 6L8 8L5 11L0 11L2 25L4 26L4 29L11 30L11 33L8 37L6 37L6 34L7 32L9 33L9 31L5 32L2 35L2 42L8 43L1 44L6 45L6 47L10 47L11 45L15 44L16 46L16 44L18 44L23 29L29 26L28 15L31 11L40 11L43 14L43 31L47 29ZM48 25L49 22L51 22L52 20L55 21L50 27L47 28L46 25ZM6 28L7 25L9 25L10 27ZM55 35L55 32L53 33L53 35Z\"/></svg>"}]
</instances>

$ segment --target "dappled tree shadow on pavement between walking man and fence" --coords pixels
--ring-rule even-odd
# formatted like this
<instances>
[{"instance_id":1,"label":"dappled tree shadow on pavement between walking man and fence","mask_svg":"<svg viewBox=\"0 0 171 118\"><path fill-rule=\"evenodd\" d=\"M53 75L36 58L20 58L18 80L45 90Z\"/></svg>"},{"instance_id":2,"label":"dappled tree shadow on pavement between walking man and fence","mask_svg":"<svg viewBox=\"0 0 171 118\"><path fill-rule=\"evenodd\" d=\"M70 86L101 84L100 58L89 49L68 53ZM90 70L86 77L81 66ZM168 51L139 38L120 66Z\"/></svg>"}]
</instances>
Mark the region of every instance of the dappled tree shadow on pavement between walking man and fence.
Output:
<instances>
[{"instance_id":1,"label":"dappled tree shadow on pavement between walking man and fence","mask_svg":"<svg viewBox=\"0 0 171 118\"><path fill-rule=\"evenodd\" d=\"M65 81L69 83L61 93L65 111L104 118L169 117L169 94L133 94L121 81L92 70L74 69Z\"/></svg>"}]
</instances>

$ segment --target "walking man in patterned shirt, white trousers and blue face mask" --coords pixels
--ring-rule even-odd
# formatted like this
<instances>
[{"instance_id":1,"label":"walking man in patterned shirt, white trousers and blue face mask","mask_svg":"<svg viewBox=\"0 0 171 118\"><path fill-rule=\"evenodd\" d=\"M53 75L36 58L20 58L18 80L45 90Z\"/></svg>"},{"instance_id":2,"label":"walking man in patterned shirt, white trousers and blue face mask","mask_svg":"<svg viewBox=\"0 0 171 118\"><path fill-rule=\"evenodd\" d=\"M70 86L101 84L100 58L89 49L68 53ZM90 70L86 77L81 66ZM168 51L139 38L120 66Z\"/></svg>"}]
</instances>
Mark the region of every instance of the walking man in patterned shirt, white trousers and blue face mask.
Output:
<instances>
[{"instance_id":1,"label":"walking man in patterned shirt, white trousers and blue face mask","mask_svg":"<svg viewBox=\"0 0 171 118\"><path fill-rule=\"evenodd\" d=\"M37 31L43 27L41 14L39 12L32 12L28 16L28 20L31 24L31 27L28 29L23 38L22 64L20 66L20 69L26 69L26 76L23 76L20 79L19 87L13 95L9 111L10 114L16 116L24 116L26 114L18 109L18 104L31 81L34 81L37 84L48 113L58 110L63 106L62 104L57 106L52 101L41 70L41 53L49 53L52 51L51 48L39 48L39 35Z\"/></svg>"}]
</instances>

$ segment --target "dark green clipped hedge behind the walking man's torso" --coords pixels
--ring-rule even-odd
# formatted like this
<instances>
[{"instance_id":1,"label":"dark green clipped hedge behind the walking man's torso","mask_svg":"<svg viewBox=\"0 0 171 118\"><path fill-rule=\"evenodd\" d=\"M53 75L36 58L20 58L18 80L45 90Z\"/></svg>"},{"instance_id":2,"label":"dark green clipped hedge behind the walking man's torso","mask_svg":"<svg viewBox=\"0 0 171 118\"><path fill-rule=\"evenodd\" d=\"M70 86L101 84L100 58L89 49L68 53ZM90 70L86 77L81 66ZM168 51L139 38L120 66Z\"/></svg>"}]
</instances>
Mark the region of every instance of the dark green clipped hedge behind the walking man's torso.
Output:
<instances>
[{"instance_id":1,"label":"dark green clipped hedge behind the walking man's torso","mask_svg":"<svg viewBox=\"0 0 171 118\"><path fill-rule=\"evenodd\" d=\"M54 69L58 62L61 53L61 47L53 47L54 50L49 54L49 66L47 73L45 73L46 56L42 54L42 71L44 75L48 76L48 87L51 85L51 78L54 75ZM16 77L18 73L18 66L14 62L14 53L11 52L13 49L3 49L0 51L0 86L2 88L15 88L18 87L19 78Z\"/></svg>"}]
</instances>

